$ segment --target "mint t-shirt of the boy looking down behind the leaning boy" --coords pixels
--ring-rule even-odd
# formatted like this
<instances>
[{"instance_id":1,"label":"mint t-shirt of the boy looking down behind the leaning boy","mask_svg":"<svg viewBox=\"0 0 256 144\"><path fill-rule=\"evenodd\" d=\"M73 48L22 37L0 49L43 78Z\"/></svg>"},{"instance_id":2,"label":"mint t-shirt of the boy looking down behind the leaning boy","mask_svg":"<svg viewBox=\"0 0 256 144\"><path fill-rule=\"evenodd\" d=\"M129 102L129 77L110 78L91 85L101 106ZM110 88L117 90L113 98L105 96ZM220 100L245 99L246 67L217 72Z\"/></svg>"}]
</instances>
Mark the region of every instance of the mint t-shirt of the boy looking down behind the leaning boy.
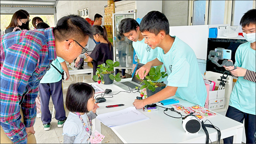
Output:
<instances>
[{"instance_id":1,"label":"mint t-shirt of the boy looking down behind the leaning boy","mask_svg":"<svg viewBox=\"0 0 256 144\"><path fill-rule=\"evenodd\" d=\"M155 60L157 57L157 49L161 49L160 47L156 47L155 49L151 49L148 44L144 43L145 38L143 38L141 41L132 42L132 47L134 48L138 59L140 59L140 63L146 64L147 62L151 60ZM160 69L161 72L164 72L164 65ZM166 81L167 78L163 78L161 81Z\"/></svg>"}]
</instances>

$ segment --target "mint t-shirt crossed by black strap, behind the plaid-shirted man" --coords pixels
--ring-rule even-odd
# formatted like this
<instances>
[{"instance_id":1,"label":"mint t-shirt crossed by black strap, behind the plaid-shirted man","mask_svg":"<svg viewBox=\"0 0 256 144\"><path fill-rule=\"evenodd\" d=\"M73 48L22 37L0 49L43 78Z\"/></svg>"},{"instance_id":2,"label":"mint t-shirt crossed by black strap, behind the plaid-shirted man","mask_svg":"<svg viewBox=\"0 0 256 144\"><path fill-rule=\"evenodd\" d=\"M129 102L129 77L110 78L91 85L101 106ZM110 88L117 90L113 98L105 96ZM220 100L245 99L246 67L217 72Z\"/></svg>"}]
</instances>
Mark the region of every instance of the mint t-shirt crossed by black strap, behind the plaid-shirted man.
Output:
<instances>
[{"instance_id":1,"label":"mint t-shirt crossed by black strap, behind the plaid-shirted man","mask_svg":"<svg viewBox=\"0 0 256 144\"><path fill-rule=\"evenodd\" d=\"M52 65L54 65L60 72L63 71L61 68L60 63L63 62L63 60L60 57L57 57L57 59L52 61ZM54 68L52 67L46 72L46 74L43 76L41 79L40 83L56 83L61 80L61 74Z\"/></svg>"}]
</instances>

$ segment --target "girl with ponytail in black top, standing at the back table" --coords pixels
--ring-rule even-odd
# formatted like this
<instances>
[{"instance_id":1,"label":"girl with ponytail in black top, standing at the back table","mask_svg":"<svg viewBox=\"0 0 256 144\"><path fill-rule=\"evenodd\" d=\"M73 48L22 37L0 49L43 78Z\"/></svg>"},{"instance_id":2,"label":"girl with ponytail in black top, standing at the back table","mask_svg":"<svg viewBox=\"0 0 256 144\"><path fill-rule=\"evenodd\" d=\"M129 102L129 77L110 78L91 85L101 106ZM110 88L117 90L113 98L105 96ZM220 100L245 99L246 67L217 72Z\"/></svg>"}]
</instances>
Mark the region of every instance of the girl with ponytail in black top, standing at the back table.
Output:
<instances>
[{"instance_id":1,"label":"girl with ponytail in black top, standing at the back table","mask_svg":"<svg viewBox=\"0 0 256 144\"><path fill-rule=\"evenodd\" d=\"M106 63L107 60L113 60L113 45L108 40L107 30L105 26L94 25L93 38L96 42L100 42L89 55L85 53L88 62L93 61L93 75L96 75L98 65Z\"/></svg>"}]
</instances>

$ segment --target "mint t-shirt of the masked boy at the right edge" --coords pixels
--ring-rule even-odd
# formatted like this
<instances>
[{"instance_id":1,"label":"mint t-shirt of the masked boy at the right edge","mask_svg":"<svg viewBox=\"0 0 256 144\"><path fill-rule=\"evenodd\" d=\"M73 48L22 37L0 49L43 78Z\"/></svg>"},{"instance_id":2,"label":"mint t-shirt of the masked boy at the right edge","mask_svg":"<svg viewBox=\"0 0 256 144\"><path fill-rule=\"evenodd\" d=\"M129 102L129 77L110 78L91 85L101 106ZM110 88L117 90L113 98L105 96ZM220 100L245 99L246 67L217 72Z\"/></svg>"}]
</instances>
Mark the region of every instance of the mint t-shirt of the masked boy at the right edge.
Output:
<instances>
[{"instance_id":1,"label":"mint t-shirt of the masked boy at the right edge","mask_svg":"<svg viewBox=\"0 0 256 144\"><path fill-rule=\"evenodd\" d=\"M247 42L238 46L234 65L255 72L256 55L250 44ZM254 82L244 80L243 76L239 76L231 92L229 106L237 108L244 113L255 115L255 87Z\"/></svg>"}]
</instances>

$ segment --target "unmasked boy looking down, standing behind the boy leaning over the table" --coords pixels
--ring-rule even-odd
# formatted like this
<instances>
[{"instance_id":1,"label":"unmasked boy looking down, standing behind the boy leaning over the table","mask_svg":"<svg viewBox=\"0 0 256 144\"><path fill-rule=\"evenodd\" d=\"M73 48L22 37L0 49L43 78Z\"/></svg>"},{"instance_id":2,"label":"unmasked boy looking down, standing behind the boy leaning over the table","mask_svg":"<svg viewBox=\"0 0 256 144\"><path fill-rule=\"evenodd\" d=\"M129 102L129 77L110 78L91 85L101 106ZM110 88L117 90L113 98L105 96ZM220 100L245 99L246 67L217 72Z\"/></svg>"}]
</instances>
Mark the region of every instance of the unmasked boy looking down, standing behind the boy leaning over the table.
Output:
<instances>
[{"instance_id":1,"label":"unmasked boy looking down, standing behind the boy leaning over the table","mask_svg":"<svg viewBox=\"0 0 256 144\"><path fill-rule=\"evenodd\" d=\"M140 63L146 64L147 62L156 59L157 48L152 49L148 44L144 43L144 37L140 32L140 25L136 20L132 18L123 19L118 28L120 36L125 36L132 41L132 47L134 48ZM164 66L161 68L161 72L163 71L165 71ZM166 78L163 78L162 81L166 81Z\"/></svg>"}]
</instances>

